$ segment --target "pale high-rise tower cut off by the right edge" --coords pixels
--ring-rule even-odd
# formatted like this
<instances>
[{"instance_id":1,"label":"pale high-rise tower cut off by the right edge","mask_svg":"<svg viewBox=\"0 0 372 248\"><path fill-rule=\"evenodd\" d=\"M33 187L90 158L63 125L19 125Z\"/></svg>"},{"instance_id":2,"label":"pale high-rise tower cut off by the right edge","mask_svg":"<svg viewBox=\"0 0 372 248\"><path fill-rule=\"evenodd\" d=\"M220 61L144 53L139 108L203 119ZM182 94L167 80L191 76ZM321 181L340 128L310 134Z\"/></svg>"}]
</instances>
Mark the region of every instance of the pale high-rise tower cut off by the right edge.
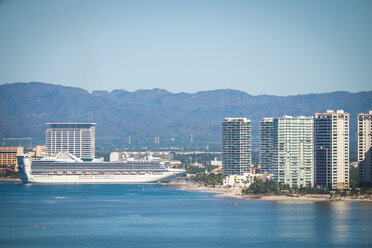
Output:
<instances>
[{"instance_id":1,"label":"pale high-rise tower cut off by the right edge","mask_svg":"<svg viewBox=\"0 0 372 248\"><path fill-rule=\"evenodd\" d=\"M372 183L372 110L358 114L358 177L360 183Z\"/></svg>"}]
</instances>

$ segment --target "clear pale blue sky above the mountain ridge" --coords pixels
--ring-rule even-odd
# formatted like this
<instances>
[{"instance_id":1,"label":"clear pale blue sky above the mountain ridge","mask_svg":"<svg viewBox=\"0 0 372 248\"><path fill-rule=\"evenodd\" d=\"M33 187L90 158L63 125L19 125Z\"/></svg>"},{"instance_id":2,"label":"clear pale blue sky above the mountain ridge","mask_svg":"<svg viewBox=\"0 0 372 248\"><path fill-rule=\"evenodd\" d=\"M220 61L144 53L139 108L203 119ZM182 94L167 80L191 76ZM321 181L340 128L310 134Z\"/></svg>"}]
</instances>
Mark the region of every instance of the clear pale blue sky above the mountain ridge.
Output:
<instances>
[{"instance_id":1,"label":"clear pale blue sky above the mountain ridge","mask_svg":"<svg viewBox=\"0 0 372 248\"><path fill-rule=\"evenodd\" d=\"M0 0L0 84L372 90L372 1Z\"/></svg>"}]
</instances>

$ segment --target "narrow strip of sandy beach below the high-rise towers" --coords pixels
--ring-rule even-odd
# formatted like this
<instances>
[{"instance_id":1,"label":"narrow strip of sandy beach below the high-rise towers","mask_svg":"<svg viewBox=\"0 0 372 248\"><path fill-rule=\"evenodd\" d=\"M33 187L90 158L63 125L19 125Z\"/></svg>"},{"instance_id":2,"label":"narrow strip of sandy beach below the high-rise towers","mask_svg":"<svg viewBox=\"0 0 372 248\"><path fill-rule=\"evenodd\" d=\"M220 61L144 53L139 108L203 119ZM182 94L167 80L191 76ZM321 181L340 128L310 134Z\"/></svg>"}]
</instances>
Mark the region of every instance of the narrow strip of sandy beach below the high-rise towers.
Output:
<instances>
[{"instance_id":1,"label":"narrow strip of sandy beach below the high-rise towers","mask_svg":"<svg viewBox=\"0 0 372 248\"><path fill-rule=\"evenodd\" d=\"M212 188L206 186L199 186L193 183L187 183L181 186L178 190L181 191L194 191L194 192L210 192L215 193L212 197L216 198L239 198L245 200L263 200L263 201L362 201L371 202L372 199L351 199L351 198L337 198L330 200L329 195L320 195L319 197L314 196L256 196L256 195L245 195L241 193L239 188Z\"/></svg>"}]
</instances>

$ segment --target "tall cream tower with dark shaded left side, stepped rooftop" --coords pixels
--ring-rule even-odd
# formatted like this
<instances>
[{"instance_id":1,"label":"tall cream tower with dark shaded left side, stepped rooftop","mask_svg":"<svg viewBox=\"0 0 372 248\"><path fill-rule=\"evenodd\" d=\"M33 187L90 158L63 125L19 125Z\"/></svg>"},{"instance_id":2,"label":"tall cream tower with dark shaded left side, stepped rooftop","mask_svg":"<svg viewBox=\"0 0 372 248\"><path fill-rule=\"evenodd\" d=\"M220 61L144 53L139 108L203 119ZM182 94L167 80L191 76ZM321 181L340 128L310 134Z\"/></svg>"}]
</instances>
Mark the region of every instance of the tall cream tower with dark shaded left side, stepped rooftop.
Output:
<instances>
[{"instance_id":1,"label":"tall cream tower with dark shaded left side, stepped rooftop","mask_svg":"<svg viewBox=\"0 0 372 248\"><path fill-rule=\"evenodd\" d=\"M349 114L327 110L314 114L315 185L349 188Z\"/></svg>"}]
</instances>

